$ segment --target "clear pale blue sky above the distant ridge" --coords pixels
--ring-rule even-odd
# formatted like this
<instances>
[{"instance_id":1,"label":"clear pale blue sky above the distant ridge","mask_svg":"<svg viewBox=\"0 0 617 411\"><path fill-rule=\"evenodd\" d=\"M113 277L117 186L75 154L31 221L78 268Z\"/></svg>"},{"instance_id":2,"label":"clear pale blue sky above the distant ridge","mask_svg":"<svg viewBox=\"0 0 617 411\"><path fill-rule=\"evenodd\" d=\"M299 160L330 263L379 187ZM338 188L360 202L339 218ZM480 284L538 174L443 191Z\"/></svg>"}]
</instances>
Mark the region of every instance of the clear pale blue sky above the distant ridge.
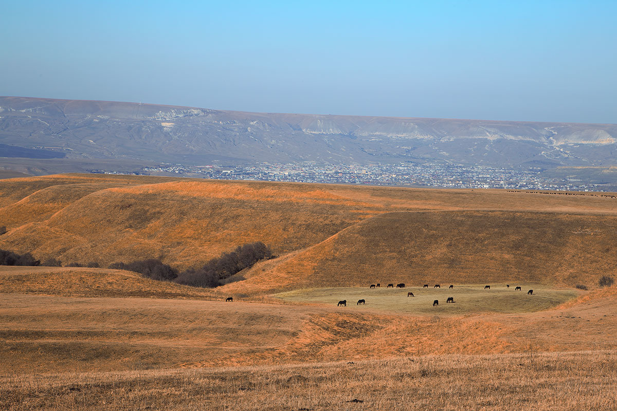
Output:
<instances>
[{"instance_id":1,"label":"clear pale blue sky above the distant ridge","mask_svg":"<svg viewBox=\"0 0 617 411\"><path fill-rule=\"evenodd\" d=\"M617 1L0 0L0 95L617 123Z\"/></svg>"}]
</instances>

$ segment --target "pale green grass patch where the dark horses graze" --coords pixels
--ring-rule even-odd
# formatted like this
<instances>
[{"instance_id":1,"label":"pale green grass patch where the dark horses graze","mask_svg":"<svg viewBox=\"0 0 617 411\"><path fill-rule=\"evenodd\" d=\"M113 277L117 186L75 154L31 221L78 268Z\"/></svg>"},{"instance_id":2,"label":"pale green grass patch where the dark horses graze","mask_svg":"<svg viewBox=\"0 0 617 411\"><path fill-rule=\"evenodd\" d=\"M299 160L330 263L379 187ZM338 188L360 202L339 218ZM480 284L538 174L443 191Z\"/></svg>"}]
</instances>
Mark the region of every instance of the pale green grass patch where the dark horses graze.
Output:
<instances>
[{"instance_id":1,"label":"pale green grass patch where the dark horses graze","mask_svg":"<svg viewBox=\"0 0 617 411\"><path fill-rule=\"evenodd\" d=\"M520 285L521 291L515 291ZM418 315L465 315L481 312L533 312L549 309L565 303L578 295L571 289L558 289L539 284L516 284L506 288L505 285L493 285L485 290L484 285L456 285L449 289L405 287L380 288L311 288L309 290L288 291L275 296L285 301L300 303L317 303L337 305L338 301L347 300L347 309L352 312L369 310L398 312ZM528 295L528 290L534 290ZM413 297L407 293L412 292ZM447 303L449 297L454 303ZM360 299L365 304L357 304ZM434 307L433 301L439 301Z\"/></svg>"}]
</instances>

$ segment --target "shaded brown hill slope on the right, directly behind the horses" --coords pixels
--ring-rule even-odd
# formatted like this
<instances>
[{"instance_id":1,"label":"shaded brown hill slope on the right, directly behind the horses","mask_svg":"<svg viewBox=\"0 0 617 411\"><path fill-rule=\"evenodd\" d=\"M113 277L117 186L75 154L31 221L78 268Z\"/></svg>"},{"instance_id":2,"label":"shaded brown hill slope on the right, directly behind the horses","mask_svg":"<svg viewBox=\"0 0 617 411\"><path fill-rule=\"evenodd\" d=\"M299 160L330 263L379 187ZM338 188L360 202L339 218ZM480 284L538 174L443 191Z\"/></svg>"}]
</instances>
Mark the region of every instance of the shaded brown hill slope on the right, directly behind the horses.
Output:
<instances>
[{"instance_id":1,"label":"shaded brown hill slope on the right, directly behind the horses","mask_svg":"<svg viewBox=\"0 0 617 411\"><path fill-rule=\"evenodd\" d=\"M617 216L511 211L380 214L307 250L255 266L229 290L371 283L595 284L616 271Z\"/></svg>"}]
</instances>

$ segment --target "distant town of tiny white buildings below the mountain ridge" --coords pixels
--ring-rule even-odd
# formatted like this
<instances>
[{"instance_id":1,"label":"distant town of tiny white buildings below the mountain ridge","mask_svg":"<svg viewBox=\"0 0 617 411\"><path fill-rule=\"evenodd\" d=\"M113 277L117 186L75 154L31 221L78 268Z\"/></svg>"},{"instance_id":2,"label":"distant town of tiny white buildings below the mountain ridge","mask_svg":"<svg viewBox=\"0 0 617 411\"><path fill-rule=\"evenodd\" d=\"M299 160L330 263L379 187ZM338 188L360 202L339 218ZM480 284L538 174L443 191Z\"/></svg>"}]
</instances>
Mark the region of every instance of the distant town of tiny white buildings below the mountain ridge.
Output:
<instances>
[{"instance_id":1,"label":"distant town of tiny white buildings below the mountain ridge","mask_svg":"<svg viewBox=\"0 0 617 411\"><path fill-rule=\"evenodd\" d=\"M126 174L101 169L92 173ZM162 164L142 168L130 174L181 175L223 180L289 181L331 184L395 185L408 187L442 187L455 189L519 189L612 191L615 187L556 179L542 176L536 168L492 168L447 164L379 164L379 165L324 165L314 162L255 165L187 166ZM608 188L608 189L607 189Z\"/></svg>"}]
</instances>

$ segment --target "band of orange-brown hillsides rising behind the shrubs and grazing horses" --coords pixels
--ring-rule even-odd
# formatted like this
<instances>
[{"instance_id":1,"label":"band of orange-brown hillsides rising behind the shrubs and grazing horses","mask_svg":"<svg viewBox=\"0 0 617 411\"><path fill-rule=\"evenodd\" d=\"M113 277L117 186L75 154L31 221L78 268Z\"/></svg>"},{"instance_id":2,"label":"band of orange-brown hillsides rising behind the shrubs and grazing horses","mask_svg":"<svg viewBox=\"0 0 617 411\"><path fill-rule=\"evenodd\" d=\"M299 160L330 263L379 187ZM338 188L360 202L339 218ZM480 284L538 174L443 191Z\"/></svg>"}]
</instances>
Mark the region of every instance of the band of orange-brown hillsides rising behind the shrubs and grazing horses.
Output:
<instances>
[{"instance_id":1,"label":"band of orange-brown hillsides rising behind the shrubs and grazing horses","mask_svg":"<svg viewBox=\"0 0 617 411\"><path fill-rule=\"evenodd\" d=\"M610 216L617 213L615 198L589 193L547 195L101 174L3 180L0 205L0 226L9 229L0 236L0 248L31 252L36 258L57 258L65 264L94 261L106 267L115 261L162 258L183 268L199 266L243 243L262 241L280 256L268 262L267 271L276 267L272 278L280 275L284 287L296 281L297 285L313 281L316 286L323 281L324 286L341 285L339 281L360 285L375 275L399 272L407 281L413 278L410 275L422 280L421 271L431 272L440 281L454 271L462 281L484 281L485 275L507 279L508 273L526 280L536 278L544 259L553 261L547 273L569 284L592 269L610 267L614 254L596 245L606 240L610 249L611 240L584 230L588 216L595 227L602 221L609 224ZM474 214L479 210L554 214L528 213L502 221L498 214L489 213L485 221L484 214ZM425 213L378 217L401 211ZM578 217L571 219L571 214ZM579 226L572 226L573 221ZM561 227L562 223L566 225ZM572 230L566 229L569 226ZM487 232L474 231L481 227ZM550 237L542 234L545 227ZM580 227L582 232L570 232ZM601 224L598 227L602 231ZM528 229L532 234L527 234ZM472 258L478 253L479 259ZM579 255L597 261L583 261ZM486 267L483 259L488 261ZM567 265L570 260L572 264ZM263 271L264 267L257 268ZM246 287L256 285L256 277ZM337 283L322 281L322 277ZM270 277L262 280L264 290L274 287Z\"/></svg>"}]
</instances>

